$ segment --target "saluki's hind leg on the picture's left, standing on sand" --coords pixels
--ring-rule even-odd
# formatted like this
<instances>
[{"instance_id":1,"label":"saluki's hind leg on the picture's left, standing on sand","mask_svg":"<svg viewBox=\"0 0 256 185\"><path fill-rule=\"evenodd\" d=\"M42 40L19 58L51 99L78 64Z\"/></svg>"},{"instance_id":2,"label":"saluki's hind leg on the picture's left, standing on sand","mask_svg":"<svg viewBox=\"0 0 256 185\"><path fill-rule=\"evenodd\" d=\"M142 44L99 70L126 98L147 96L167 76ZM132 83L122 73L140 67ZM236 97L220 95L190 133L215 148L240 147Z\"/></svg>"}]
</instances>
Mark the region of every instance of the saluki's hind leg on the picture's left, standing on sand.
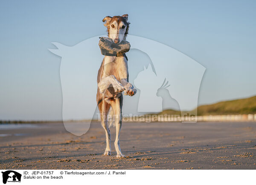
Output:
<instances>
[{"instance_id":1,"label":"saluki's hind leg on the picture's left, standing on sand","mask_svg":"<svg viewBox=\"0 0 256 185\"><path fill-rule=\"evenodd\" d=\"M110 104L108 104L103 97L102 102L99 104L99 112L100 112L101 124L106 133L106 149L104 152L105 156L111 155L111 146L110 146L111 134L108 128L108 121L107 121L107 114L108 114L109 108L110 108Z\"/></svg>"}]
</instances>

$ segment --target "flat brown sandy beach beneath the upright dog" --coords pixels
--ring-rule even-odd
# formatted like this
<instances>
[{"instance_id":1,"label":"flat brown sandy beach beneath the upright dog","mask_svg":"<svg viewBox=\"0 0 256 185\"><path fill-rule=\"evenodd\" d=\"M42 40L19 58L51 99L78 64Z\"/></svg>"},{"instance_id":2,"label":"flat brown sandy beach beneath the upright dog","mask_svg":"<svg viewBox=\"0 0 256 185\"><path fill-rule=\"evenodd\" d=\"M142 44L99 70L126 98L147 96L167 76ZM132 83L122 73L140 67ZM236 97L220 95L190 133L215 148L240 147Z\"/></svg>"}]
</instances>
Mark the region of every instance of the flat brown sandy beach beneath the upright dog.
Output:
<instances>
[{"instance_id":1,"label":"flat brown sandy beach beneath the upright dog","mask_svg":"<svg viewBox=\"0 0 256 185\"><path fill-rule=\"evenodd\" d=\"M111 138L115 128L111 127ZM1 125L1 169L256 169L256 122L130 123L123 159L99 122L77 137L61 122Z\"/></svg>"}]
</instances>

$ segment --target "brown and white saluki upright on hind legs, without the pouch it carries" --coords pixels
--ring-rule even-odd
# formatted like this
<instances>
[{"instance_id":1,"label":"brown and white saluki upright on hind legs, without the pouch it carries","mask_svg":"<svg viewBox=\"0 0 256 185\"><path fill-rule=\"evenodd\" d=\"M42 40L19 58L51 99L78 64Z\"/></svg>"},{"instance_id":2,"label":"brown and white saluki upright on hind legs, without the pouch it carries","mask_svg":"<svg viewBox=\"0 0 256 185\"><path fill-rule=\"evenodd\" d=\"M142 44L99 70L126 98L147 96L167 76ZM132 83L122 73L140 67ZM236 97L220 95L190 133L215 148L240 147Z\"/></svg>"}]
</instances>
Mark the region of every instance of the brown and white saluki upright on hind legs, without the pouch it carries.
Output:
<instances>
[{"instance_id":1,"label":"brown and white saluki upright on hind legs, without the pouch it carries","mask_svg":"<svg viewBox=\"0 0 256 185\"><path fill-rule=\"evenodd\" d=\"M102 20L107 27L108 37L114 43L125 40L128 29L128 14L122 16L105 17ZM119 135L122 126L122 91L124 95L133 96L136 89L128 81L128 59L122 57L105 56L98 71L97 103L101 115L101 124L106 132L106 149L104 155L111 155L111 134L106 119L108 114L113 115L116 126L116 157L124 157L119 144Z\"/></svg>"}]
</instances>

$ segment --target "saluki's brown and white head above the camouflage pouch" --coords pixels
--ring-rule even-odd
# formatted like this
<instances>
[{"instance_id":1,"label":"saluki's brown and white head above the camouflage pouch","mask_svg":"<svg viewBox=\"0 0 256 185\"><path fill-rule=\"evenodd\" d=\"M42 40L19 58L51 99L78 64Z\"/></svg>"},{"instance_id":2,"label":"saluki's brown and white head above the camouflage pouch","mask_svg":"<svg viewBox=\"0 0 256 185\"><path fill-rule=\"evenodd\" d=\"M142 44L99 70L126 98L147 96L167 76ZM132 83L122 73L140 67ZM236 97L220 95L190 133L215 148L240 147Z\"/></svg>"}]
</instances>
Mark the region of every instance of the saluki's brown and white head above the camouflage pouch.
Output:
<instances>
[{"instance_id":1,"label":"saluki's brown and white head above the camouflage pouch","mask_svg":"<svg viewBox=\"0 0 256 185\"><path fill-rule=\"evenodd\" d=\"M104 22L104 26L107 27L108 37L114 43L118 44L126 39L130 24L128 23L128 14L114 17L107 16L102 21Z\"/></svg>"}]
</instances>

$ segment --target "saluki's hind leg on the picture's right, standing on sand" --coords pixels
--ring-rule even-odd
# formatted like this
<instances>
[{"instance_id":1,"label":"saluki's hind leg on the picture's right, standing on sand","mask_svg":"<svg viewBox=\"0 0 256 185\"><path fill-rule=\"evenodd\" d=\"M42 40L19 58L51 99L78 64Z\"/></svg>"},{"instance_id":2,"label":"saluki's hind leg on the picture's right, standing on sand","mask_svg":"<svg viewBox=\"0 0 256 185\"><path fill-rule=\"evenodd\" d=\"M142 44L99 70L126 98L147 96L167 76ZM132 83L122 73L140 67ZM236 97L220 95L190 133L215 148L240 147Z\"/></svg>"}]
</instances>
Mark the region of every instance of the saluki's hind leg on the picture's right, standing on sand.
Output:
<instances>
[{"instance_id":1,"label":"saluki's hind leg on the picture's right, standing on sand","mask_svg":"<svg viewBox=\"0 0 256 185\"><path fill-rule=\"evenodd\" d=\"M111 101L111 107L113 108L114 114L115 114L115 124L116 124L116 140L115 140L115 148L116 148L116 157L125 157L120 148L120 143L119 143L119 136L120 136L120 131L122 127L122 100L123 97L122 95L115 99L114 101Z\"/></svg>"}]
</instances>

